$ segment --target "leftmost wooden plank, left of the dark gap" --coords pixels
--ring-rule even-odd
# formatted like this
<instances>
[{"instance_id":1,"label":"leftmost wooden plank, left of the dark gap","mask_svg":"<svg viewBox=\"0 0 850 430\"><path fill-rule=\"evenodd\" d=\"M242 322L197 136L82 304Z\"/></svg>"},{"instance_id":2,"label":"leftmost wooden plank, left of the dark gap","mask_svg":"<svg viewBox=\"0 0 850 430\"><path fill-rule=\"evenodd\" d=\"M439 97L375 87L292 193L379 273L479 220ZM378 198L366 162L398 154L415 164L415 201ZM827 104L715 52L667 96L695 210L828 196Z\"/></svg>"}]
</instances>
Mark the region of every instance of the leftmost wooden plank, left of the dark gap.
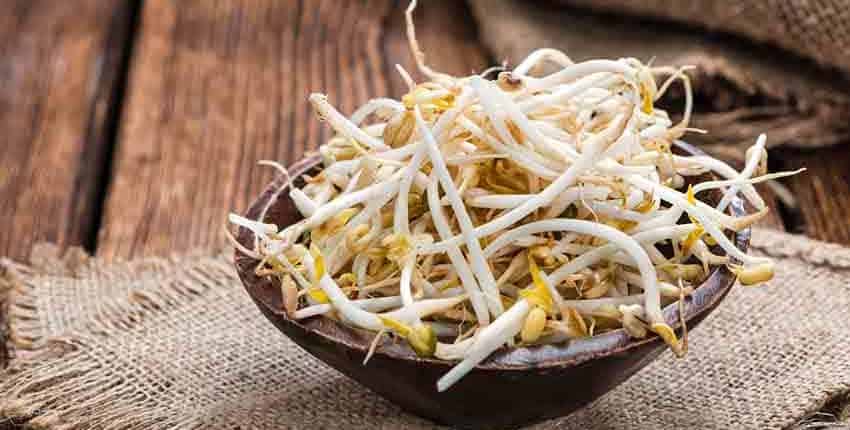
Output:
<instances>
[{"instance_id":1,"label":"leftmost wooden plank, left of the dark gap","mask_svg":"<svg viewBox=\"0 0 850 430\"><path fill-rule=\"evenodd\" d=\"M93 239L129 5L16 0L0 15L0 255Z\"/></svg>"}]
</instances>

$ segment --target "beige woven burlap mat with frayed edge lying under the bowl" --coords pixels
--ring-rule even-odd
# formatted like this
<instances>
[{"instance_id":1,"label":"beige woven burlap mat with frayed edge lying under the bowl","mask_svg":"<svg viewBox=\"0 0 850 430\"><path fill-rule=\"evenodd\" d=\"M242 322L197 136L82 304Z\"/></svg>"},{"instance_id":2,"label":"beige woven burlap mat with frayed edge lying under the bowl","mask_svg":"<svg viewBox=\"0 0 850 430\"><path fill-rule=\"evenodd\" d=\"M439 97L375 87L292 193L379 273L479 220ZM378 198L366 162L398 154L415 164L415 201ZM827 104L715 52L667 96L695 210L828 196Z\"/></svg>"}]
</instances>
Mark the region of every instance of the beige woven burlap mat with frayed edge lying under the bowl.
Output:
<instances>
[{"instance_id":1,"label":"beige woven burlap mat with frayed edge lying under the bowl","mask_svg":"<svg viewBox=\"0 0 850 430\"><path fill-rule=\"evenodd\" d=\"M850 249L753 237L755 252L777 259L776 278L733 289L691 333L685 359L665 353L535 428L783 428L848 390ZM276 331L224 254L35 255L2 266L13 359L0 416L51 429L434 427Z\"/></svg>"}]
</instances>

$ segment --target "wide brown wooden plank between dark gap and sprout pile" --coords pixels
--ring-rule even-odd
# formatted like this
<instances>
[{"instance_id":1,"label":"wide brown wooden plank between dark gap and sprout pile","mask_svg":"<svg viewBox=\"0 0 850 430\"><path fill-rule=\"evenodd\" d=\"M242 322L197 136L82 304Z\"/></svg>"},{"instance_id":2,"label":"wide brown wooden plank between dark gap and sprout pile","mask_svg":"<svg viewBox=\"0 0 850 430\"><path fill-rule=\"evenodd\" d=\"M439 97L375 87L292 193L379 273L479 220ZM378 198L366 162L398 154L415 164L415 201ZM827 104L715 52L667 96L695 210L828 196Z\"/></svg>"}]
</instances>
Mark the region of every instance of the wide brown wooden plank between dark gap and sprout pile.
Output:
<instances>
[{"instance_id":1,"label":"wide brown wooden plank between dark gap and sprout pile","mask_svg":"<svg viewBox=\"0 0 850 430\"><path fill-rule=\"evenodd\" d=\"M417 24L432 63L452 73L483 67L465 5L423 3ZM328 137L306 102L310 92L328 93L346 113L370 97L399 95L392 64L414 69L402 49L400 7L145 2L98 254L222 243L227 212L246 208L272 178L256 161L289 163Z\"/></svg>"}]
</instances>

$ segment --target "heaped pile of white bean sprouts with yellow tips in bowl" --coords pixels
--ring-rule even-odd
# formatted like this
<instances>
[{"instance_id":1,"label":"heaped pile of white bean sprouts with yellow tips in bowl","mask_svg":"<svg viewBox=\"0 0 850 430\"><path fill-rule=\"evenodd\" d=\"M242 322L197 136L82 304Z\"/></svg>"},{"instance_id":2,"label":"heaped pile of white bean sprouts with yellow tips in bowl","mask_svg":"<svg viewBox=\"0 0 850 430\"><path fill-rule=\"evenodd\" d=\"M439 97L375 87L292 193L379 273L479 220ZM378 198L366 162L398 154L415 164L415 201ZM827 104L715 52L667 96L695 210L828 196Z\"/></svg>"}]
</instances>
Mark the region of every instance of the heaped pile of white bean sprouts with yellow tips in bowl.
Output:
<instances>
[{"instance_id":1,"label":"heaped pile of white bean sprouts with yellow tips in bowl","mask_svg":"<svg viewBox=\"0 0 850 430\"><path fill-rule=\"evenodd\" d=\"M349 117L312 94L336 134L319 149L320 173L280 190L303 220L230 217L254 233L254 248L240 249L279 281L290 318L375 332L370 355L389 335L420 356L459 360L437 382L443 391L505 345L624 329L682 354L662 306L715 266L743 284L772 277L769 259L728 235L767 213L754 183L797 172L766 172L763 135L741 171L674 154L686 132L702 132L688 127L687 68L574 63L541 49L512 70L453 77L424 64L413 6L409 40L428 81L398 67L409 92ZM541 75L544 65L558 70ZM676 81L685 107L674 123L654 104ZM705 173L722 179L700 182ZM716 203L703 201L710 190ZM738 195L753 213L729 214Z\"/></svg>"}]
</instances>

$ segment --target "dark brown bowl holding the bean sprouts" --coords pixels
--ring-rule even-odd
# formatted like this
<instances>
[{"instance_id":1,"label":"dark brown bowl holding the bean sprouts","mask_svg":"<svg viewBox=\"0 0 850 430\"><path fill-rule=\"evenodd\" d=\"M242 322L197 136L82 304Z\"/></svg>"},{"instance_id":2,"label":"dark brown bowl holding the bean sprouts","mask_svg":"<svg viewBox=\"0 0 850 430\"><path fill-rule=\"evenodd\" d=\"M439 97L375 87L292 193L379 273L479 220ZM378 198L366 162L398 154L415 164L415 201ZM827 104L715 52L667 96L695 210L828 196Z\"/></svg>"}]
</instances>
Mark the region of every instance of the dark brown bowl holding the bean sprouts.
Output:
<instances>
[{"instance_id":1,"label":"dark brown bowl holding the bean sprouts","mask_svg":"<svg viewBox=\"0 0 850 430\"><path fill-rule=\"evenodd\" d=\"M682 152L699 153L683 146ZM317 168L318 157L292 166L298 177ZM248 210L255 219L284 183L271 183ZM282 194L271 203L266 222L281 227L301 219L291 200ZM744 212L740 200L735 214ZM746 251L749 230L734 236ZM238 240L249 248L253 236L240 229ZM385 342L367 365L363 358L374 334L344 326L324 317L301 321L287 318L278 284L258 277L255 259L236 251L236 267L245 289L257 306L284 334L328 365L360 382L414 414L462 428L504 428L567 415L605 394L654 360L666 349L658 337L632 339L622 329L560 345L502 348L493 353L449 390L438 393L437 379L454 362L417 357L404 342ZM708 279L685 299L688 327L699 323L726 296L735 276L715 268ZM664 309L667 322L679 328L676 304Z\"/></svg>"}]
</instances>

